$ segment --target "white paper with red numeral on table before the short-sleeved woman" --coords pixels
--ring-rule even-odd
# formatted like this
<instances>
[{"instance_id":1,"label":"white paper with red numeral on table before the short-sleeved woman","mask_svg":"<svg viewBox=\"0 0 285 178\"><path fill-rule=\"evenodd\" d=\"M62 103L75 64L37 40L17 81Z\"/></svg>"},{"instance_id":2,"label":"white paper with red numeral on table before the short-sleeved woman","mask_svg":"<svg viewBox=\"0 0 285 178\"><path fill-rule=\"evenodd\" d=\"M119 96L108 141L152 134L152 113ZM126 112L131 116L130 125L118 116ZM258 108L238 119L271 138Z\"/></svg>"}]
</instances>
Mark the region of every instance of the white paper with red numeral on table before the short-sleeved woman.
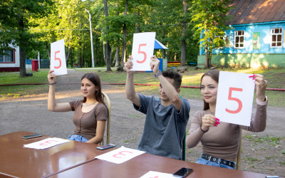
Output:
<instances>
[{"instance_id":1,"label":"white paper with red numeral on table before the short-sleeved woman","mask_svg":"<svg viewBox=\"0 0 285 178\"><path fill-rule=\"evenodd\" d=\"M48 147L53 147L56 145L60 145L66 142L70 142L70 140L62 139L62 138L47 138L45 140L41 140L38 142L33 142L28 145L24 145L24 147L34 148L34 149L46 149Z\"/></svg>"}]
</instances>

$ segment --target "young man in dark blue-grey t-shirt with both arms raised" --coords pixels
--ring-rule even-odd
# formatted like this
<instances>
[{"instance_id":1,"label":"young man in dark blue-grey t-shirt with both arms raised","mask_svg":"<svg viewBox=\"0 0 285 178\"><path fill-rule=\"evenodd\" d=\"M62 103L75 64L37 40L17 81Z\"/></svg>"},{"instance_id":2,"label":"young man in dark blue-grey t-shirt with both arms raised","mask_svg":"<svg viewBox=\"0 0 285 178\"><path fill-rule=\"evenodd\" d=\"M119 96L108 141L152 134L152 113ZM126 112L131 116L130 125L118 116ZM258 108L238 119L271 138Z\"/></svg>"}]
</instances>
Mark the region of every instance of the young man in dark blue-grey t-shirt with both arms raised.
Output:
<instances>
[{"instance_id":1,"label":"young man in dark blue-grey t-shirt with both arms raised","mask_svg":"<svg viewBox=\"0 0 285 178\"><path fill-rule=\"evenodd\" d=\"M145 113L145 127L138 150L152 155L182 159L182 140L185 136L189 119L190 103L179 95L182 75L172 70L159 70L160 61L151 57L150 66L155 78L160 81L160 100L153 96L140 95L135 92L133 83L133 57L125 63L127 80L126 97L133 102L135 110Z\"/></svg>"}]
</instances>

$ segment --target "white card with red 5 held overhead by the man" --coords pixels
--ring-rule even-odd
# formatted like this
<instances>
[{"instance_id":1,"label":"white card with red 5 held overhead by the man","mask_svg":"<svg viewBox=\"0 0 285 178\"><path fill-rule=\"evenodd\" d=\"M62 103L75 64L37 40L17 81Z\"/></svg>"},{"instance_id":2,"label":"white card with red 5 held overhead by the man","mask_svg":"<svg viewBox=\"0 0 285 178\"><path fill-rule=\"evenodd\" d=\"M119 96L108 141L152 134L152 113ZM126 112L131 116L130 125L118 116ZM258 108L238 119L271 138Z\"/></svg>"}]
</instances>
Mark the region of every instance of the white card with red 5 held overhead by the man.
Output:
<instances>
[{"instance_id":1,"label":"white card with red 5 held overhead by the man","mask_svg":"<svg viewBox=\"0 0 285 178\"><path fill-rule=\"evenodd\" d=\"M147 71L150 69L150 57L155 48L155 32L133 34L133 71Z\"/></svg>"}]
</instances>

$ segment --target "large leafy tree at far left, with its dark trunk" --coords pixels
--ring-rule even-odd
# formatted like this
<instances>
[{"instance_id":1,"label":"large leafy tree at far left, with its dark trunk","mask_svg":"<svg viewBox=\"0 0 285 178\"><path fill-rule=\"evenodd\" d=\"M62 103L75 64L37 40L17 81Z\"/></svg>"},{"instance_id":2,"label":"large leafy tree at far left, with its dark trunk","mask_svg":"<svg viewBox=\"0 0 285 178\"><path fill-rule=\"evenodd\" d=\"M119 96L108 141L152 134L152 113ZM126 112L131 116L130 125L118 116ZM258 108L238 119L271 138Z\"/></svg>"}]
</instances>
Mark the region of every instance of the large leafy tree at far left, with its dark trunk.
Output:
<instances>
[{"instance_id":1,"label":"large leafy tree at far left, with its dark trunk","mask_svg":"<svg viewBox=\"0 0 285 178\"><path fill-rule=\"evenodd\" d=\"M36 38L27 31L35 26L29 23L31 18L41 18L48 13L49 0L4 0L0 2L0 51L9 48L9 44L20 48L20 76L26 76L26 50L35 46Z\"/></svg>"}]
</instances>

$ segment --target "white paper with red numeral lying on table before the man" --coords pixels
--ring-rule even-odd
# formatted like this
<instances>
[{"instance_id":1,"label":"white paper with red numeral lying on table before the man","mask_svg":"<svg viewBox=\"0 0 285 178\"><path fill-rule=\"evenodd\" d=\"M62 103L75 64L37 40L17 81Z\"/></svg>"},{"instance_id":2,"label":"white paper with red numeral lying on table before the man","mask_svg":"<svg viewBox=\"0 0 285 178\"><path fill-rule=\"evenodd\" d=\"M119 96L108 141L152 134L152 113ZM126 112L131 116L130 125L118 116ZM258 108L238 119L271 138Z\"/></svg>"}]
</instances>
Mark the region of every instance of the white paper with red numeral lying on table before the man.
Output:
<instances>
[{"instance_id":1,"label":"white paper with red numeral lying on table before the man","mask_svg":"<svg viewBox=\"0 0 285 178\"><path fill-rule=\"evenodd\" d=\"M134 149L130 149L127 147L120 147L119 149L107 152L103 155L99 155L95 158L97 159L102 159L108 162L113 162L116 164L120 164L123 162L128 161L129 159L132 159L133 157L137 157L138 155L142 155L142 152L140 150L134 150Z\"/></svg>"}]
</instances>

